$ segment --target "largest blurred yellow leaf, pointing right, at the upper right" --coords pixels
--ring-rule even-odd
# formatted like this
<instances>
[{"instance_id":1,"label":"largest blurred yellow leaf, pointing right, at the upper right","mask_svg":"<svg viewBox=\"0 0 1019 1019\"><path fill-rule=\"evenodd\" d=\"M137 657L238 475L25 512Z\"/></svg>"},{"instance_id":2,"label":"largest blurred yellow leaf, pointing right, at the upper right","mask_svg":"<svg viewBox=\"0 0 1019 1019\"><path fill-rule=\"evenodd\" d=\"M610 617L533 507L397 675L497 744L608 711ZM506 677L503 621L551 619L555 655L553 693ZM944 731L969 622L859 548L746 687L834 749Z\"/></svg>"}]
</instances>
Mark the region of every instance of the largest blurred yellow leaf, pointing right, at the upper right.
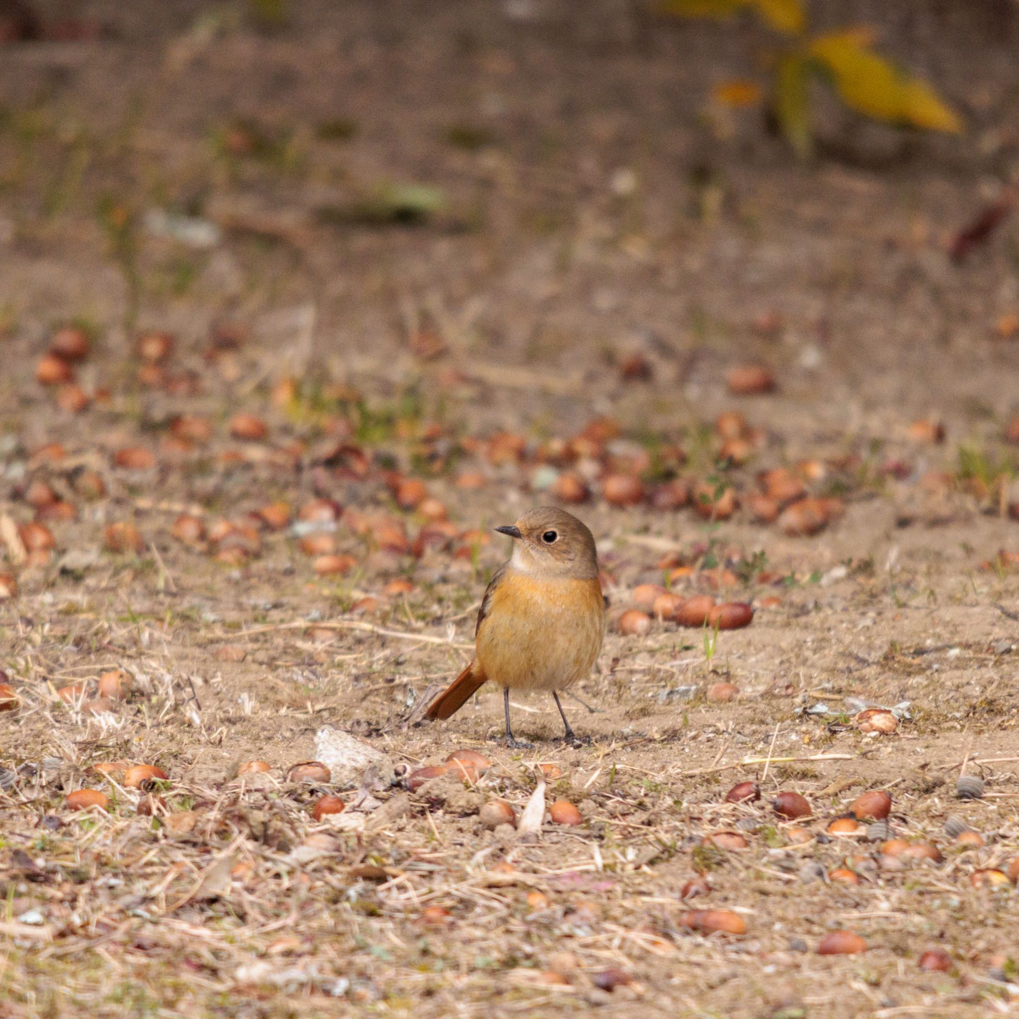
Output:
<instances>
[{"instance_id":1,"label":"largest blurred yellow leaf, pointing right, at the upper right","mask_svg":"<svg viewBox=\"0 0 1019 1019\"><path fill-rule=\"evenodd\" d=\"M870 49L859 30L818 36L809 53L832 75L851 109L889 123L959 132L962 121L925 82L900 70Z\"/></svg>"}]
</instances>

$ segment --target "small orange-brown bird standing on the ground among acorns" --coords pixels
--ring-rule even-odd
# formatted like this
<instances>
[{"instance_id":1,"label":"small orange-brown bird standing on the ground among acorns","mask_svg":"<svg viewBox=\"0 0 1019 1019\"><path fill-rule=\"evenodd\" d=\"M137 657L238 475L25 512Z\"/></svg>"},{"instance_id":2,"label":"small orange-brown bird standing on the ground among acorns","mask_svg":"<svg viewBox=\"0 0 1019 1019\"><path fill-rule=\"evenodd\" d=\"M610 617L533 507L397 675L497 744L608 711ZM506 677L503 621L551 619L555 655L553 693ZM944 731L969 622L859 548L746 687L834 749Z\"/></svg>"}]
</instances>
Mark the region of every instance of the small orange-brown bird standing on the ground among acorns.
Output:
<instances>
[{"instance_id":1,"label":"small orange-brown bird standing on the ground among acorns","mask_svg":"<svg viewBox=\"0 0 1019 1019\"><path fill-rule=\"evenodd\" d=\"M495 528L514 539L513 555L485 591L474 631L475 656L429 705L426 716L448 718L491 680L502 687L506 743L511 690L548 690L576 742L556 691L590 672L605 636L605 602L591 532L554 506L530 509Z\"/></svg>"}]
</instances>

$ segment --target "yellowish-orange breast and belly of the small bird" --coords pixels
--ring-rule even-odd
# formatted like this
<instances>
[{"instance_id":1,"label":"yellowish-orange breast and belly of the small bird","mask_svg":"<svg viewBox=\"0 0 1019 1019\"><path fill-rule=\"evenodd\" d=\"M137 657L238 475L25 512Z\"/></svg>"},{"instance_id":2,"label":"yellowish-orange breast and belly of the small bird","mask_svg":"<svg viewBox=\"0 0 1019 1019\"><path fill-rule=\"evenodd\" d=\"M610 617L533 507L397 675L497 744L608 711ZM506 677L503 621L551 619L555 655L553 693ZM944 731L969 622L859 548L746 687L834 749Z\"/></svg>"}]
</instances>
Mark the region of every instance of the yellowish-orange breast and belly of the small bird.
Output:
<instances>
[{"instance_id":1,"label":"yellowish-orange breast and belly of the small bird","mask_svg":"<svg viewBox=\"0 0 1019 1019\"><path fill-rule=\"evenodd\" d=\"M597 580L507 574L478 630L478 665L502 687L562 690L590 672L605 635Z\"/></svg>"}]
</instances>

